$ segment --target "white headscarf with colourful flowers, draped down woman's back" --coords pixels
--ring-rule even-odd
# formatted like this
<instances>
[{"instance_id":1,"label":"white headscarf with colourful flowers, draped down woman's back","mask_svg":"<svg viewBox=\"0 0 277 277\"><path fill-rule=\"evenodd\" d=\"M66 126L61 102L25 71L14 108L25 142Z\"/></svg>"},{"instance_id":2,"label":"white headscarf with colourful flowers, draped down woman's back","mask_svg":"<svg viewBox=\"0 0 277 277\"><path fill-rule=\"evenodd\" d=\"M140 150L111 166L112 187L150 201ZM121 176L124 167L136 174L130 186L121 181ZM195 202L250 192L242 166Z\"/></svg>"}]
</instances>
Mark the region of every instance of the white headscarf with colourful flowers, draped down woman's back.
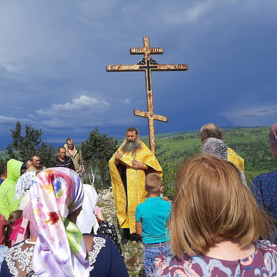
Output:
<instances>
[{"instance_id":1,"label":"white headscarf with colourful flowers, draped down woman's back","mask_svg":"<svg viewBox=\"0 0 277 277\"><path fill-rule=\"evenodd\" d=\"M38 239L32 267L38 276L88 276L89 266L83 236L68 214L81 207L84 189L80 177L71 169L41 171L30 188Z\"/></svg>"}]
</instances>

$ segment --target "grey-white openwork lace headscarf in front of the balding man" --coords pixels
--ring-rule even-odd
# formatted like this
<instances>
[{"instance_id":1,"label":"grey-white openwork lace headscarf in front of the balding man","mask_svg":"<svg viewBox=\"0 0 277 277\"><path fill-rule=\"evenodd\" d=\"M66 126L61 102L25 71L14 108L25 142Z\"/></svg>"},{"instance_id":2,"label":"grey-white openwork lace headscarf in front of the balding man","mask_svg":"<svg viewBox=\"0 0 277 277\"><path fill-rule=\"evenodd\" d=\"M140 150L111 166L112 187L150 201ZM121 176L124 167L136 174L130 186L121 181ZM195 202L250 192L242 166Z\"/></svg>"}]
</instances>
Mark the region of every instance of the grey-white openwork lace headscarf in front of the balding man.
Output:
<instances>
[{"instance_id":1,"label":"grey-white openwork lace headscarf in front of the balding man","mask_svg":"<svg viewBox=\"0 0 277 277\"><path fill-rule=\"evenodd\" d=\"M227 145L220 139L205 139L203 142L202 153L227 161Z\"/></svg>"}]
</instances>

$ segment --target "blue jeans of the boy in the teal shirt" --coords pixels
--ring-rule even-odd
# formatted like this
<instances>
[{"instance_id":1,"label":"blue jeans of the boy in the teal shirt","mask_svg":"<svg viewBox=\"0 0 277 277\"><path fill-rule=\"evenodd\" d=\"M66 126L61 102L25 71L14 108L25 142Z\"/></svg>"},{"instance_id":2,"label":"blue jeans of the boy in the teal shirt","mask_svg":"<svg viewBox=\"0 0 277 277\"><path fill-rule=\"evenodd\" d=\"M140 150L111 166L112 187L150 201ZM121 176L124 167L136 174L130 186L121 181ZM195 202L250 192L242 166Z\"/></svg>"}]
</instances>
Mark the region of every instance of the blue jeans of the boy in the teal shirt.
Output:
<instances>
[{"instance_id":1,"label":"blue jeans of the boy in the teal shirt","mask_svg":"<svg viewBox=\"0 0 277 277\"><path fill-rule=\"evenodd\" d=\"M146 277L150 275L151 265L154 259L161 254L164 254L166 257L171 255L170 242L143 244L143 262Z\"/></svg>"}]
</instances>

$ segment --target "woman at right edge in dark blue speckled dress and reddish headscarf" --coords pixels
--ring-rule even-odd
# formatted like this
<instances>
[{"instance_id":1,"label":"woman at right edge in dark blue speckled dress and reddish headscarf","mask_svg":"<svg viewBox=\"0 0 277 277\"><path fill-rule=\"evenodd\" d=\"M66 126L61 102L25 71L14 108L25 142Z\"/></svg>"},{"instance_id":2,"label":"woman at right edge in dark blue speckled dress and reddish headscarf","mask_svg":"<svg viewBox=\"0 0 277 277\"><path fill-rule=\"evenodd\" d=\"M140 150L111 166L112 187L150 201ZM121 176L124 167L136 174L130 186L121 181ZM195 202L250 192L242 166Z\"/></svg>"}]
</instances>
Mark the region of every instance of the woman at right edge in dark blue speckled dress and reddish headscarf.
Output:
<instances>
[{"instance_id":1,"label":"woman at right edge in dark blue speckled dress and reddish headscarf","mask_svg":"<svg viewBox=\"0 0 277 277\"><path fill-rule=\"evenodd\" d=\"M269 149L277 160L277 123L269 131ZM277 171L262 173L250 187L259 205L277 220ZM277 234L274 243L277 244Z\"/></svg>"}]
</instances>

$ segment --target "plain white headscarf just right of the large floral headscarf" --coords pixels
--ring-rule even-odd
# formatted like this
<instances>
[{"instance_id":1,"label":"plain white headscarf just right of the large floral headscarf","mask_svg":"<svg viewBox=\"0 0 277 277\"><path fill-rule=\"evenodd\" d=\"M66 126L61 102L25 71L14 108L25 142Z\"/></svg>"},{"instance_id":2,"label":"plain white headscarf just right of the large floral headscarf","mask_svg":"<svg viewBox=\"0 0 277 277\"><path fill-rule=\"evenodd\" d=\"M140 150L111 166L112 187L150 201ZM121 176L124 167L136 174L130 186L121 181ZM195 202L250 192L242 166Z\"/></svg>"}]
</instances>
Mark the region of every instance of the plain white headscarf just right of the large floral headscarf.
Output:
<instances>
[{"instance_id":1,"label":"plain white headscarf just right of the large floral headscarf","mask_svg":"<svg viewBox=\"0 0 277 277\"><path fill-rule=\"evenodd\" d=\"M97 233L99 228L98 221L94 214L94 209L98 201L98 194L93 186L83 184L85 191L85 198L83 202L83 210L77 217L76 226L80 229L81 233L90 234L93 227L94 233Z\"/></svg>"}]
</instances>

